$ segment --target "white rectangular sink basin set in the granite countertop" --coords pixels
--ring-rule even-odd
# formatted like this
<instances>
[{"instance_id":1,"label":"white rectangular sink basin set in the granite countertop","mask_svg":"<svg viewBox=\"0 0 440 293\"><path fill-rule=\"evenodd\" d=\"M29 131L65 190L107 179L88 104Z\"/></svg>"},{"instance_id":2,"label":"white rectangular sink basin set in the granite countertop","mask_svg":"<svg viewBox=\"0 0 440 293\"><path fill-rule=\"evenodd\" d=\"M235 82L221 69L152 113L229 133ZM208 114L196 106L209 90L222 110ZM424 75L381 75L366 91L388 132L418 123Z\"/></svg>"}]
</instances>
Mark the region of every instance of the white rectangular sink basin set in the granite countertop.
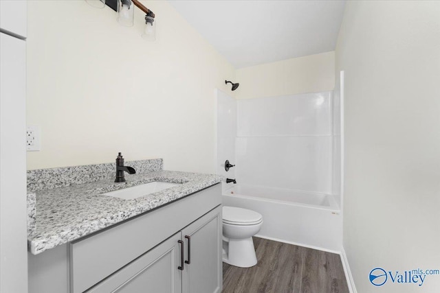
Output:
<instances>
[{"instance_id":1,"label":"white rectangular sink basin set in the granite countertop","mask_svg":"<svg viewBox=\"0 0 440 293\"><path fill-rule=\"evenodd\" d=\"M141 196L146 196L147 194L154 194L157 191L175 187L177 185L180 185L180 183L155 181L142 185L110 191L102 195L114 196L115 198L122 198L124 200L133 200L134 198L140 198Z\"/></svg>"}]
</instances>

